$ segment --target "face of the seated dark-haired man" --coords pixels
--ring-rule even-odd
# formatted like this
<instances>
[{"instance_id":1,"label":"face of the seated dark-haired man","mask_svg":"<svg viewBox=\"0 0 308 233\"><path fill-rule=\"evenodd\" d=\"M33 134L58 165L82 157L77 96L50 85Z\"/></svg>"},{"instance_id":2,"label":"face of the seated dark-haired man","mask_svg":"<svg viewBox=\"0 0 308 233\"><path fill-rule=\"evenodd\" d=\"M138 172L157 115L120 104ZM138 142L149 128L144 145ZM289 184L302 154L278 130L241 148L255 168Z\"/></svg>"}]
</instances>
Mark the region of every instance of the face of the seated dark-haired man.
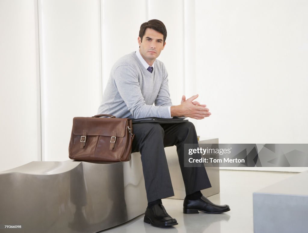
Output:
<instances>
[{"instance_id":1,"label":"face of the seated dark-haired man","mask_svg":"<svg viewBox=\"0 0 308 233\"><path fill-rule=\"evenodd\" d=\"M150 66L152 66L155 59L160 55L161 50L163 50L166 45L166 42L164 43L163 34L151 28L145 30L142 42L141 38L138 37L138 43L141 56Z\"/></svg>"}]
</instances>

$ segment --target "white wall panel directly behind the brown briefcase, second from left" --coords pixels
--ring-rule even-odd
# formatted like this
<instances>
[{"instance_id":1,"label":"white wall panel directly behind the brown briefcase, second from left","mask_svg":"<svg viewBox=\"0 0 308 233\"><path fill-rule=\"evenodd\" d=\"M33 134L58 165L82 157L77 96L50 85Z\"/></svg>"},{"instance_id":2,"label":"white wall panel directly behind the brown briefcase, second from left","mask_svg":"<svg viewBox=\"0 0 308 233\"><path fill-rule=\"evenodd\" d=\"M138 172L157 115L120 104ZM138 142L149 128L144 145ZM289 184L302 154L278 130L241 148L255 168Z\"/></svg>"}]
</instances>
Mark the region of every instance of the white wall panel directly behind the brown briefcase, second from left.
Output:
<instances>
[{"instance_id":1,"label":"white wall panel directly behind the brown briefcase, second from left","mask_svg":"<svg viewBox=\"0 0 308 233\"><path fill-rule=\"evenodd\" d=\"M72 118L101 99L100 2L40 1L43 159L68 159Z\"/></svg>"}]
</instances>

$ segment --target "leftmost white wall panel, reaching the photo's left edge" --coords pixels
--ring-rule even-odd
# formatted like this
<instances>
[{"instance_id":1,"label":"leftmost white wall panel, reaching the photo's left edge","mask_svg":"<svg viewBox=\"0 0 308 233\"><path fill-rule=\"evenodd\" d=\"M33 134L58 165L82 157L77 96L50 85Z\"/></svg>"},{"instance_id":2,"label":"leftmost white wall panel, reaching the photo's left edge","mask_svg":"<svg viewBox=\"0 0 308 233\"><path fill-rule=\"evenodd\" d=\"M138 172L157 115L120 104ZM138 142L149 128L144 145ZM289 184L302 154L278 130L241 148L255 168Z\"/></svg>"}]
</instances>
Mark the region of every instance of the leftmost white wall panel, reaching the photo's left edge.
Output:
<instances>
[{"instance_id":1,"label":"leftmost white wall panel, reaching the photo's left edge","mask_svg":"<svg viewBox=\"0 0 308 233\"><path fill-rule=\"evenodd\" d=\"M0 1L0 171L41 157L35 3Z\"/></svg>"}]
</instances>

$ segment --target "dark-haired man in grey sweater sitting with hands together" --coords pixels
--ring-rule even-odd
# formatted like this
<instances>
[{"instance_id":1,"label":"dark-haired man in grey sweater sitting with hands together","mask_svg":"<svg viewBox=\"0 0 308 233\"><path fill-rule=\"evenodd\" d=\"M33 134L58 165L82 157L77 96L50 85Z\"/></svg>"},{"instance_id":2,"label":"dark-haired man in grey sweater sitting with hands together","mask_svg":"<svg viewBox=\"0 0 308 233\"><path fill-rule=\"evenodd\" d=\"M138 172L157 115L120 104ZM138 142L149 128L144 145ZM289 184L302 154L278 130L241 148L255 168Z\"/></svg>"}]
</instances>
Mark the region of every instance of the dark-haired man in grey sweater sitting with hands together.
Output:
<instances>
[{"instance_id":1,"label":"dark-haired man in grey sweater sitting with hands together","mask_svg":"<svg viewBox=\"0 0 308 233\"><path fill-rule=\"evenodd\" d=\"M195 119L209 117L206 105L183 95L181 104L173 106L168 88L168 73L164 64L156 60L166 45L167 30L159 20L150 20L140 26L139 50L121 57L112 67L103 101L98 114L118 118L185 116ZM155 106L153 105L155 103ZM177 124L134 124L132 152L141 153L144 182L148 199L144 222L156 227L178 224L168 215L161 199L174 196L164 147L177 147L186 197L183 212L186 214L223 213L228 205L216 205L205 198L200 190L211 184L204 165L184 166L184 144L198 145L197 134L191 122ZM195 158L201 158L200 154Z\"/></svg>"}]
</instances>

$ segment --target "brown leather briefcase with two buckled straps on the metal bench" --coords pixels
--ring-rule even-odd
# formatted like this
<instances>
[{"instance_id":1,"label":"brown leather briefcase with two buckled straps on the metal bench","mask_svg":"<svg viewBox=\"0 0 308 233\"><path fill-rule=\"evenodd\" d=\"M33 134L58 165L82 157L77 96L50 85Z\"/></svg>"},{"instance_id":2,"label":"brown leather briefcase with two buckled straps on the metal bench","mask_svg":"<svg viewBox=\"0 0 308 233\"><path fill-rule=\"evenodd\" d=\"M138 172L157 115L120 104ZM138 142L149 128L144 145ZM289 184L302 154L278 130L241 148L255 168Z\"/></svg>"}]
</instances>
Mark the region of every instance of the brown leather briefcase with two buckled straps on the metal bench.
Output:
<instances>
[{"instance_id":1,"label":"brown leather briefcase with two buckled straps on the metal bench","mask_svg":"<svg viewBox=\"0 0 308 233\"><path fill-rule=\"evenodd\" d=\"M102 116L108 118L100 118ZM133 139L131 119L105 114L74 117L69 158L83 161L129 161Z\"/></svg>"}]
</instances>

